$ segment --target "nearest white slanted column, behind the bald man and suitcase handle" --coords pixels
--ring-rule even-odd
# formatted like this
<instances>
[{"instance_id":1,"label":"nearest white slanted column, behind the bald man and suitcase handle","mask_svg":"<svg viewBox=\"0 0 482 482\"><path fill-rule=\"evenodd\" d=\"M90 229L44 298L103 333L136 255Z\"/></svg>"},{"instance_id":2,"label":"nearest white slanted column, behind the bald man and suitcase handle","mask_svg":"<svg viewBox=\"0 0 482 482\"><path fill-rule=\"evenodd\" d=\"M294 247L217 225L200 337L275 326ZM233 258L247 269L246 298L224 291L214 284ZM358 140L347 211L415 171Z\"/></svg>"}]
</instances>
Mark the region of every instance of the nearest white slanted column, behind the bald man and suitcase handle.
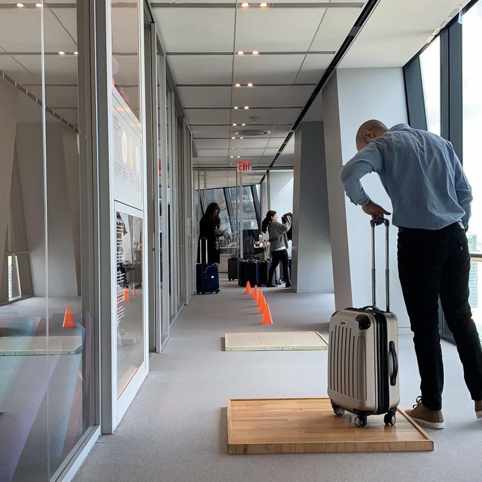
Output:
<instances>
[{"instance_id":1,"label":"nearest white slanted column, behind the bald man and suitcase handle","mask_svg":"<svg viewBox=\"0 0 482 482\"><path fill-rule=\"evenodd\" d=\"M344 195L338 175L356 153L355 136L362 122L378 119L388 127L406 122L405 90L401 68L338 69L322 91L327 181L330 213L335 305L371 304L369 217ZM392 211L390 199L376 174L362 179L374 202ZM376 231L377 305L385 307L385 237ZM409 327L398 281L397 228L390 228L391 309L400 327Z\"/></svg>"}]
</instances>

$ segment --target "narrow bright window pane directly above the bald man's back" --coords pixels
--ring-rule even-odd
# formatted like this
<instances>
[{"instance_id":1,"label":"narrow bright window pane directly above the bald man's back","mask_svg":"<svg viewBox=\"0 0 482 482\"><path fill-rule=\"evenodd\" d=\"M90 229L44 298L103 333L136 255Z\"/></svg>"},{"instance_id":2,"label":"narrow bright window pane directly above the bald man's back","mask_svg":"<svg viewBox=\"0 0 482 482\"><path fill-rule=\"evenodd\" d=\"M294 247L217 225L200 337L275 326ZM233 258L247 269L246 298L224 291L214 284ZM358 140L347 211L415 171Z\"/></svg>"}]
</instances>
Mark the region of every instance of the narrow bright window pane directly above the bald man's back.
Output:
<instances>
[{"instance_id":1,"label":"narrow bright window pane directly above the bald man's back","mask_svg":"<svg viewBox=\"0 0 482 482\"><path fill-rule=\"evenodd\" d=\"M427 129L440 135L440 37L422 52L423 97L427 115Z\"/></svg>"}]
</instances>

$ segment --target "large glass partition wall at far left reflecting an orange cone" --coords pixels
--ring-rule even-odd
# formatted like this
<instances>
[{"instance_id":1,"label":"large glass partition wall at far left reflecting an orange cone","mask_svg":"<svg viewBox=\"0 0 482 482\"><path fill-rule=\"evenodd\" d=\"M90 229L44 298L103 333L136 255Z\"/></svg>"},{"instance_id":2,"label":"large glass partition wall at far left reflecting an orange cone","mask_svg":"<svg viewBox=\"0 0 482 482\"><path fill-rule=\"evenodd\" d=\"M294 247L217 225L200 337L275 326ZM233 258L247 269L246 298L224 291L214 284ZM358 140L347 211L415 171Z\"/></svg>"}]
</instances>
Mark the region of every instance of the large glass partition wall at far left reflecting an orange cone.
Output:
<instances>
[{"instance_id":1,"label":"large glass partition wall at far left reflecting an orange cone","mask_svg":"<svg viewBox=\"0 0 482 482\"><path fill-rule=\"evenodd\" d=\"M1 481L57 480L99 423L81 7L1 9Z\"/></svg>"}]
</instances>

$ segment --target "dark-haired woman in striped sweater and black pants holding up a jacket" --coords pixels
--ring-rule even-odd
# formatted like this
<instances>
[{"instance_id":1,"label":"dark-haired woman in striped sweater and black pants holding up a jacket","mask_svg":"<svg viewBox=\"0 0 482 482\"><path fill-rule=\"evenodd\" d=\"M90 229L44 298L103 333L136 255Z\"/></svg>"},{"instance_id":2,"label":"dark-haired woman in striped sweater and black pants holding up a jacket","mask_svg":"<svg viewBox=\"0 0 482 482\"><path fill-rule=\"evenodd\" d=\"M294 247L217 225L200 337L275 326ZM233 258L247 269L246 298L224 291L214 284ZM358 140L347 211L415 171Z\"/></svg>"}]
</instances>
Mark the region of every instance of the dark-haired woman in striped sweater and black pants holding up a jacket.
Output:
<instances>
[{"instance_id":1,"label":"dark-haired woman in striped sweater and black pants holding up a jacket","mask_svg":"<svg viewBox=\"0 0 482 482\"><path fill-rule=\"evenodd\" d=\"M290 267L288 258L288 238L286 233L291 228L293 220L291 216L286 216L286 222L278 223L278 216L276 211L268 211L266 217L263 219L261 230L263 233L268 231L270 247L271 247L271 263L270 272L268 274L268 287L273 287L274 270L279 263L283 266L283 273L285 274L286 288L291 286Z\"/></svg>"}]
</instances>

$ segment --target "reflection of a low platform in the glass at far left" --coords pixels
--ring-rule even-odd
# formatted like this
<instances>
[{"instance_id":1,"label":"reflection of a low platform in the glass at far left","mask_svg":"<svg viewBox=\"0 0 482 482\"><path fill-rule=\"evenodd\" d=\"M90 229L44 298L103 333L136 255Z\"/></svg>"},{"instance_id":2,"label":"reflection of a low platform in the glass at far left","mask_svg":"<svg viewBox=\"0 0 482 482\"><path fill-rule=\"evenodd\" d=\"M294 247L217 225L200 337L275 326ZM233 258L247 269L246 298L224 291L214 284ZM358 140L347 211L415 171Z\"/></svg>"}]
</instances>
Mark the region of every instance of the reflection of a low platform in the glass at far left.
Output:
<instances>
[{"instance_id":1,"label":"reflection of a low platform in the glass at far left","mask_svg":"<svg viewBox=\"0 0 482 482\"><path fill-rule=\"evenodd\" d=\"M82 336L0 336L0 356L75 355L82 351Z\"/></svg>"}]
</instances>

